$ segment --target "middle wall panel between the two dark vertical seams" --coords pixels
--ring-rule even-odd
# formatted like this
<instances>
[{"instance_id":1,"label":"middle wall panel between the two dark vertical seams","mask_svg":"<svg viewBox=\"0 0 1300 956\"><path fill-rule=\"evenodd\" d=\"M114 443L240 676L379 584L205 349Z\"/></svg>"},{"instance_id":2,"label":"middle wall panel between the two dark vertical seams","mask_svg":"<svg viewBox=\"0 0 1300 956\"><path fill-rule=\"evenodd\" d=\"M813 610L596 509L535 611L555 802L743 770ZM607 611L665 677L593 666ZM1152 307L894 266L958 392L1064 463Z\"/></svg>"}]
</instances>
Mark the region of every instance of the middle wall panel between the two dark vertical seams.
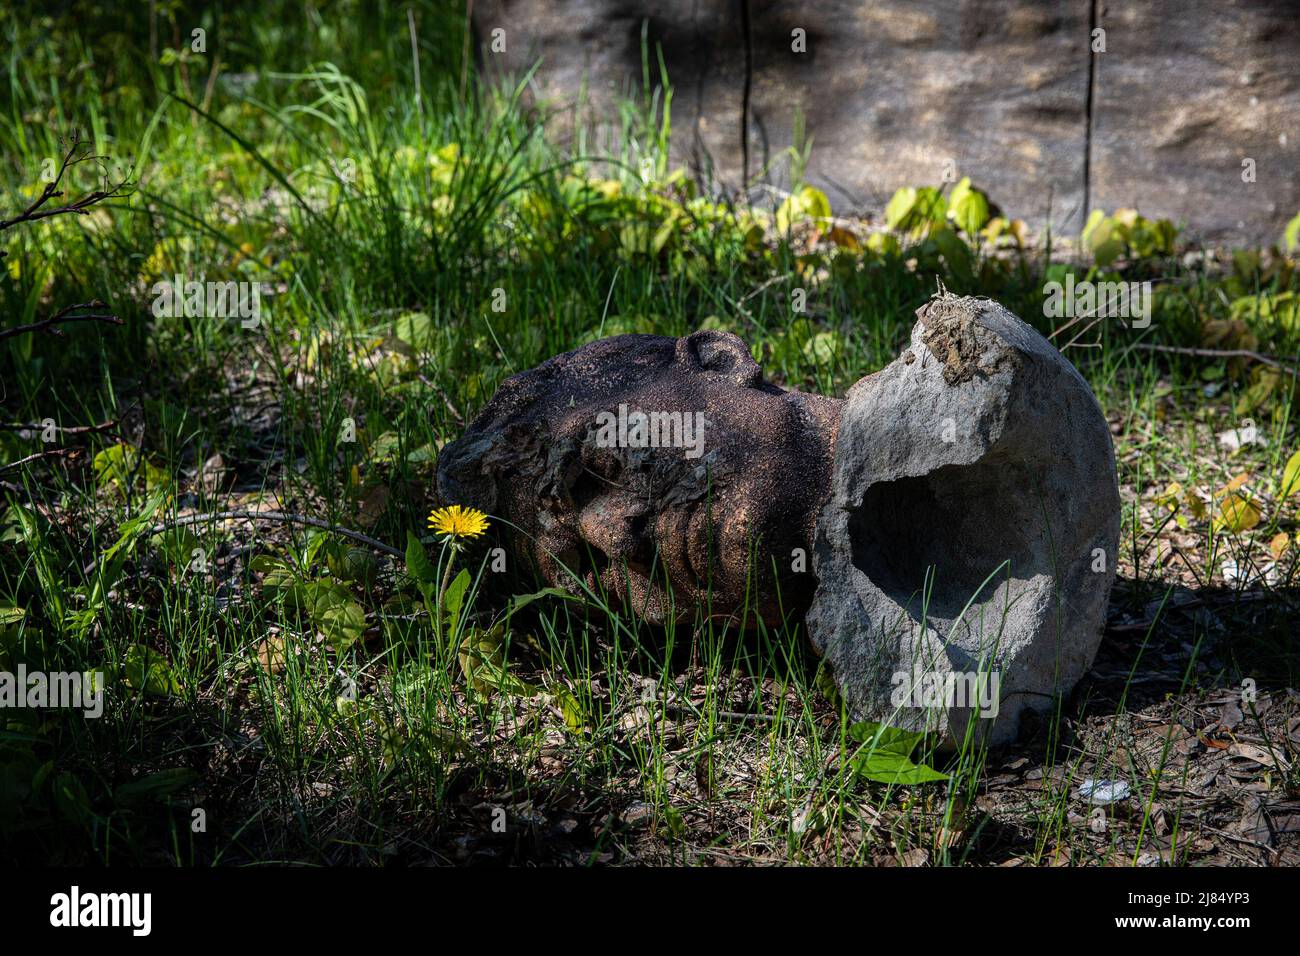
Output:
<instances>
[{"instance_id":1,"label":"middle wall panel between the two dark vertical seams","mask_svg":"<svg viewBox=\"0 0 1300 956\"><path fill-rule=\"evenodd\" d=\"M754 4L753 34L757 152L775 157L801 113L809 179L838 208L970 176L1013 216L1082 225L1086 3Z\"/></svg>"}]
</instances>

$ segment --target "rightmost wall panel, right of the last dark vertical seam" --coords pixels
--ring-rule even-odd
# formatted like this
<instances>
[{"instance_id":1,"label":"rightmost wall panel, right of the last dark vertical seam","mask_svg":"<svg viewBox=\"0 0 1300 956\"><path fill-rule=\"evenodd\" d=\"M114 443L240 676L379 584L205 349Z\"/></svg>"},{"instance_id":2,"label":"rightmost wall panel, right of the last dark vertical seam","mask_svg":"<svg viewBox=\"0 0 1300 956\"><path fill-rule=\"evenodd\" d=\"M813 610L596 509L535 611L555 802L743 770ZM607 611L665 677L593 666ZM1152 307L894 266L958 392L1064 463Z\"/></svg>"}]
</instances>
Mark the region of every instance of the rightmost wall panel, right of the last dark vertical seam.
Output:
<instances>
[{"instance_id":1,"label":"rightmost wall panel, right of the last dark vertical seam","mask_svg":"<svg viewBox=\"0 0 1300 956\"><path fill-rule=\"evenodd\" d=\"M1098 23L1092 204L1277 242L1300 212L1300 8L1149 0Z\"/></svg>"}]
</instances>

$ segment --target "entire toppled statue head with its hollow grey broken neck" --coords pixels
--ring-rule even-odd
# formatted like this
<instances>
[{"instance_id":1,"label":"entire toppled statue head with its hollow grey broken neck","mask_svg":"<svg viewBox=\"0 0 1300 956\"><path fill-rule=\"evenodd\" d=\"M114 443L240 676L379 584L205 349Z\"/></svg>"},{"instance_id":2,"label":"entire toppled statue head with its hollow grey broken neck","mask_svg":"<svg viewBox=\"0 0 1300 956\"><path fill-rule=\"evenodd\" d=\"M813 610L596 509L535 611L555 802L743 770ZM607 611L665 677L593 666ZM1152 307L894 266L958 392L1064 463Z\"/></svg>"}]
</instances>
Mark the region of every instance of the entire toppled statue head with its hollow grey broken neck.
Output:
<instances>
[{"instance_id":1,"label":"entire toppled statue head with its hollow grey broken neck","mask_svg":"<svg viewBox=\"0 0 1300 956\"><path fill-rule=\"evenodd\" d=\"M941 295L845 401L745 343L618 336L507 380L438 462L549 584L654 622L798 620L855 715L992 743L1091 665L1119 537L1078 371Z\"/></svg>"}]
</instances>

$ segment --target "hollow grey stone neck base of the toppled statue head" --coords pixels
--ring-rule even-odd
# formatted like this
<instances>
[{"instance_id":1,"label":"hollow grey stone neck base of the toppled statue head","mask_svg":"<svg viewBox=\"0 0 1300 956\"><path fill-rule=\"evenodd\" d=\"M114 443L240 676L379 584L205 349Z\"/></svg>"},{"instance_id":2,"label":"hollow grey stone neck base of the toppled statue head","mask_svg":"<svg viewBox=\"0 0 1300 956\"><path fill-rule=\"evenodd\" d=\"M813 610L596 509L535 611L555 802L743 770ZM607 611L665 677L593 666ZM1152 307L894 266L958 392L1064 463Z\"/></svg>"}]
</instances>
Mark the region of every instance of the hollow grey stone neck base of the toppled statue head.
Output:
<instances>
[{"instance_id":1,"label":"hollow grey stone neck base of the toppled statue head","mask_svg":"<svg viewBox=\"0 0 1300 956\"><path fill-rule=\"evenodd\" d=\"M910 349L845 402L809 632L857 715L1000 744L1096 653L1114 450L1078 371L1005 308L944 295L918 316ZM979 672L1000 682L996 718L926 706Z\"/></svg>"}]
</instances>

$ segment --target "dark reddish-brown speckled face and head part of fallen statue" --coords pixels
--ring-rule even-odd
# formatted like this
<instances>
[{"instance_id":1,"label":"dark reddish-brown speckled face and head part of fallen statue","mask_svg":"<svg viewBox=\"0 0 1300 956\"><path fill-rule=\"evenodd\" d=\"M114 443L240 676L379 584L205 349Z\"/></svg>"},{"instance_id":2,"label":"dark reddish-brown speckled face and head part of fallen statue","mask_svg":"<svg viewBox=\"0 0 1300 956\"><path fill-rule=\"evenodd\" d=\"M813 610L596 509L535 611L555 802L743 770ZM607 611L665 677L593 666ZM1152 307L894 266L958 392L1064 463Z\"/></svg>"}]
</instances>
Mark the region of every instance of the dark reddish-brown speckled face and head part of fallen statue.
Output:
<instances>
[{"instance_id":1,"label":"dark reddish-brown speckled face and head part of fallen statue","mask_svg":"<svg viewBox=\"0 0 1300 956\"><path fill-rule=\"evenodd\" d=\"M507 380L438 486L516 525L551 584L656 623L732 617L748 593L775 623L811 598L840 406L764 382L729 333L618 336Z\"/></svg>"}]
</instances>

